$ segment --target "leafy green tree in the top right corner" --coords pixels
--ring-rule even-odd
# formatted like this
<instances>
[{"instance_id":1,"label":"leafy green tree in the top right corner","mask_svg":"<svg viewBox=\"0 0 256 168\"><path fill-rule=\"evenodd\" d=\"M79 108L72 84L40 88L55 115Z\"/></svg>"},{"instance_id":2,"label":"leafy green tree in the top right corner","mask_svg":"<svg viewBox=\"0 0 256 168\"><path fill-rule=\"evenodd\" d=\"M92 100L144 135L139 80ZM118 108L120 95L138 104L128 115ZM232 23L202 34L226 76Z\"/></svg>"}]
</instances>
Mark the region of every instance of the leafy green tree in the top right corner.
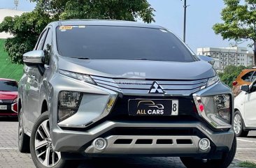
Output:
<instances>
[{"instance_id":1,"label":"leafy green tree in the top right corner","mask_svg":"<svg viewBox=\"0 0 256 168\"><path fill-rule=\"evenodd\" d=\"M244 0L243 4L241 0L224 0L224 3L221 12L224 22L215 24L213 30L236 43L252 41L249 47L253 47L256 65L256 0Z\"/></svg>"}]
</instances>

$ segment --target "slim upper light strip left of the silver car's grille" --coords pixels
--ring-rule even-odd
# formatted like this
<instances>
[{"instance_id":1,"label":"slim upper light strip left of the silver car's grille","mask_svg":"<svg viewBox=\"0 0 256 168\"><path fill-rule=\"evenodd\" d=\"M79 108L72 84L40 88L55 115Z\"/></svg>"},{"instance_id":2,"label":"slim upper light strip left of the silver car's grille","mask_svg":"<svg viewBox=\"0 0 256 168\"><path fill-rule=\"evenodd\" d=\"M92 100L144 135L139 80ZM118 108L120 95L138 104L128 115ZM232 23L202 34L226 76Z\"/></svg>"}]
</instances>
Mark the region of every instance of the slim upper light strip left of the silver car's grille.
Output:
<instances>
[{"instance_id":1,"label":"slim upper light strip left of the silver car's grille","mask_svg":"<svg viewBox=\"0 0 256 168\"><path fill-rule=\"evenodd\" d=\"M80 74L80 73L76 73L76 72L70 72L70 71L66 71L66 70L59 70L59 73L62 75L65 75L67 77L72 77L74 79L78 79L83 82L87 82L90 84L96 84L94 82L94 80L92 79L92 77L90 77L90 75Z\"/></svg>"}]
</instances>

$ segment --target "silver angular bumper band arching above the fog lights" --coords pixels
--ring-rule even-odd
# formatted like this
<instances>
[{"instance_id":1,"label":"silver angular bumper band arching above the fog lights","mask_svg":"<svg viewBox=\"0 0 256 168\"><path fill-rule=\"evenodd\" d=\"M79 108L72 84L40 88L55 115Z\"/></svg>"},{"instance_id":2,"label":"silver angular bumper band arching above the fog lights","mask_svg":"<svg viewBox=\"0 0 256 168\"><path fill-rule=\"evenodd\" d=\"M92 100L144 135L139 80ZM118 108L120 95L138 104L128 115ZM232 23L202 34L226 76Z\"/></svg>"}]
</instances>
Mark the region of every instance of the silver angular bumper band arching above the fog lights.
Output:
<instances>
[{"instance_id":1,"label":"silver angular bumper band arching above the fog lights","mask_svg":"<svg viewBox=\"0 0 256 168\"><path fill-rule=\"evenodd\" d=\"M78 148L83 146L86 142L91 142L93 139L104 134L108 130L113 128L127 127L127 128L197 128L203 132L216 146L227 146L231 148L234 138L234 132L232 130L228 132L213 132L206 125L200 122L194 123L133 123L133 122L114 122L106 121L97 125L96 127L87 131L73 131L62 130L59 127L55 127L52 130L52 139L55 139L54 146L56 151L78 151ZM183 151L186 153L185 151ZM160 151L159 151L160 153Z\"/></svg>"}]
</instances>

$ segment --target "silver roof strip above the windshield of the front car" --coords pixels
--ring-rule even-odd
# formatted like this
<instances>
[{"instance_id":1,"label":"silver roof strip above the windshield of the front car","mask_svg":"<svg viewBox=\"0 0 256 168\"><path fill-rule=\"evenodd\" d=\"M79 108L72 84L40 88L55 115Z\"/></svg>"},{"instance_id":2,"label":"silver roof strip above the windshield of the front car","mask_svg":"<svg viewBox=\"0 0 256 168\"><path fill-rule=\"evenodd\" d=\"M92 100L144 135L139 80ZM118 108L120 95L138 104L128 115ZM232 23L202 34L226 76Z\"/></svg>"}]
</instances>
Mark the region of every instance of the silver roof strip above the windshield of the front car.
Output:
<instances>
[{"instance_id":1,"label":"silver roof strip above the windshield of the front car","mask_svg":"<svg viewBox=\"0 0 256 168\"><path fill-rule=\"evenodd\" d=\"M144 27L151 29L165 29L162 26L155 24L145 24L143 22L132 22L123 20L61 20L52 22L50 24L57 24L56 26L68 26L68 25L90 25L90 26L133 26L133 27Z\"/></svg>"}]
</instances>

